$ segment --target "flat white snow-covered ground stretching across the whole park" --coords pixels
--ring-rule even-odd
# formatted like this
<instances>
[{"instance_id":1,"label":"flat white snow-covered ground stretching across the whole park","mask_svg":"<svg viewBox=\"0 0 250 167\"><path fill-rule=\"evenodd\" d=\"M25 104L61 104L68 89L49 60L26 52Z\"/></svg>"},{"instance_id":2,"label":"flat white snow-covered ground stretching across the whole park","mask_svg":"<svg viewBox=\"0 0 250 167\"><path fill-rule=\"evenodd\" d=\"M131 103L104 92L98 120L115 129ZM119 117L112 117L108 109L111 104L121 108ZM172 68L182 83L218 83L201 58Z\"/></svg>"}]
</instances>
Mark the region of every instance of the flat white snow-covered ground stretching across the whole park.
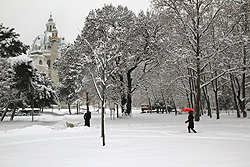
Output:
<instances>
[{"instance_id":1,"label":"flat white snow-covered ground stretching across the whole park","mask_svg":"<svg viewBox=\"0 0 250 167\"><path fill-rule=\"evenodd\" d=\"M250 113L248 113L250 114ZM187 133L187 114L140 114L110 120L106 146L100 137L100 114L91 127L83 115L46 111L0 122L1 167L249 167L250 119L221 114L202 116L198 133ZM67 128L66 121L75 124Z\"/></svg>"}]
</instances>

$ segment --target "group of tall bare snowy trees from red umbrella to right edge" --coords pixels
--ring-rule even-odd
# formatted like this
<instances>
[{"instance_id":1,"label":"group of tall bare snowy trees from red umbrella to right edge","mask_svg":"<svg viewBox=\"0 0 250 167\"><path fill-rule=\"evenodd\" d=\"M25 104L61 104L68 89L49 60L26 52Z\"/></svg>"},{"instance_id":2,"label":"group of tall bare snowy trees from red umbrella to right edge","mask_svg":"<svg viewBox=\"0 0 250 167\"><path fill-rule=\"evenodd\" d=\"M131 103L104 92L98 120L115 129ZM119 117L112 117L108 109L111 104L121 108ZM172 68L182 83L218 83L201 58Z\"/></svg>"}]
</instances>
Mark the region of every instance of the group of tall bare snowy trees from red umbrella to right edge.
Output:
<instances>
[{"instance_id":1,"label":"group of tall bare snowy trees from red umbrella to right edge","mask_svg":"<svg viewBox=\"0 0 250 167\"><path fill-rule=\"evenodd\" d=\"M231 94L231 106L224 107L233 107L238 117L240 113L246 117L249 1L153 0L153 5L165 13L168 22L174 23L172 31L176 34L172 39L176 39L178 45L171 51L178 54L176 57L184 66L179 70L180 81L188 88L189 105L200 111L204 98L208 115L212 116L210 104L214 99L219 119L219 96L228 98ZM195 120L199 117L200 113L196 112Z\"/></svg>"}]
</instances>

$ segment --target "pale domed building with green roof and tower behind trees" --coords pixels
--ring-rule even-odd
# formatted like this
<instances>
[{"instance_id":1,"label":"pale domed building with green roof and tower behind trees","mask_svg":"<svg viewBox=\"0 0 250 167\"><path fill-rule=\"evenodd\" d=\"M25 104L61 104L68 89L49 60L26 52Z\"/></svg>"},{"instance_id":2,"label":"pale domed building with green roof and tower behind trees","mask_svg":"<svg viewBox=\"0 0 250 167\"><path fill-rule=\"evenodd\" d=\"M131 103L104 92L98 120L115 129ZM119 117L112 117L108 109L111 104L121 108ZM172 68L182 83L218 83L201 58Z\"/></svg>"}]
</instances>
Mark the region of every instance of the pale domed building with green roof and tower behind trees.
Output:
<instances>
[{"instance_id":1,"label":"pale domed building with green roof and tower behind trees","mask_svg":"<svg viewBox=\"0 0 250 167\"><path fill-rule=\"evenodd\" d=\"M46 23L46 30L38 35L31 45L29 56L36 64L38 71L45 72L56 85L62 79L58 77L57 71L53 69L53 64L57 57L61 55L61 48L68 45L64 37L59 36L56 23L50 15Z\"/></svg>"}]
</instances>

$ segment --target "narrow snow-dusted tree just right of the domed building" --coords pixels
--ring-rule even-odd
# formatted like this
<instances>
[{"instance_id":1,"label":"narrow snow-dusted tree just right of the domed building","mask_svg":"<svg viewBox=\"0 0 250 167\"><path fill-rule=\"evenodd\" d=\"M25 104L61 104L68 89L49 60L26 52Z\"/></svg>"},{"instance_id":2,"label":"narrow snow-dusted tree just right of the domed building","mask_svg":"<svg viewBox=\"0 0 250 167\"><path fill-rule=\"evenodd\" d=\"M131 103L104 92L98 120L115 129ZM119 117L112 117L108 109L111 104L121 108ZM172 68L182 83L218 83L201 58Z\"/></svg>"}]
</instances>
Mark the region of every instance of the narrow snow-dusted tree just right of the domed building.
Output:
<instances>
[{"instance_id":1,"label":"narrow snow-dusted tree just right of the domed building","mask_svg":"<svg viewBox=\"0 0 250 167\"><path fill-rule=\"evenodd\" d=\"M57 85L58 96L61 101L68 105L70 114L70 105L75 101L82 101L83 91L88 91L88 88L83 85L86 73L82 71L82 58L79 54L76 46L71 44L62 49L62 56L54 63L54 68L58 70L58 75L64 78Z\"/></svg>"}]
</instances>

